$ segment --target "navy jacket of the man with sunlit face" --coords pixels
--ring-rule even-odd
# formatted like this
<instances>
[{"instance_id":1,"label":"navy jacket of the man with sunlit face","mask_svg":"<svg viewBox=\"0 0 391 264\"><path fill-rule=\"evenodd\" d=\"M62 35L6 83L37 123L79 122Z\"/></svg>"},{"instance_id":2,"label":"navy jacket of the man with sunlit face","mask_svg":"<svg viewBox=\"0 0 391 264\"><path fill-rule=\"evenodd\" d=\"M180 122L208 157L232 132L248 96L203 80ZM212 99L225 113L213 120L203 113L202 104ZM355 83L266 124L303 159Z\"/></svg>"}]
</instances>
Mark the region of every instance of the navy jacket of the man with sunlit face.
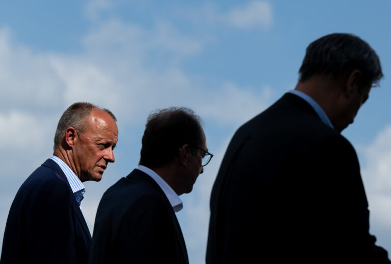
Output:
<instances>
[{"instance_id":1,"label":"navy jacket of the man with sunlit face","mask_svg":"<svg viewBox=\"0 0 391 264\"><path fill-rule=\"evenodd\" d=\"M16 193L0 263L84 264L90 244L87 223L65 174L47 159Z\"/></svg>"}]
</instances>

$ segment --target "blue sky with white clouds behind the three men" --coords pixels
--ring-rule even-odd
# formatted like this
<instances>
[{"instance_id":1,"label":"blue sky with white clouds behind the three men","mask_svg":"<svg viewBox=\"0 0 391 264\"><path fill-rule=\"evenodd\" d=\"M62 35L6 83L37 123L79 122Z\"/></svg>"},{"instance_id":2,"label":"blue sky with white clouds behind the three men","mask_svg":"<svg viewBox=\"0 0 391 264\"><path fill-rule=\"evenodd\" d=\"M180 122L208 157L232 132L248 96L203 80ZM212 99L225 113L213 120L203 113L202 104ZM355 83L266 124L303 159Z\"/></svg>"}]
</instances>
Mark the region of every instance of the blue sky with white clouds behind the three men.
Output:
<instances>
[{"instance_id":1,"label":"blue sky with white clouds behind the three men","mask_svg":"<svg viewBox=\"0 0 391 264\"><path fill-rule=\"evenodd\" d=\"M204 119L213 157L177 214L190 263L203 263L209 197L240 124L294 88L306 46L350 32L378 53L385 78L354 124L371 232L391 250L391 38L388 0L110 1L0 3L0 241L20 184L52 154L54 130L72 103L118 118L116 162L87 182L92 232L103 192L137 166L148 114L186 106Z\"/></svg>"}]
</instances>

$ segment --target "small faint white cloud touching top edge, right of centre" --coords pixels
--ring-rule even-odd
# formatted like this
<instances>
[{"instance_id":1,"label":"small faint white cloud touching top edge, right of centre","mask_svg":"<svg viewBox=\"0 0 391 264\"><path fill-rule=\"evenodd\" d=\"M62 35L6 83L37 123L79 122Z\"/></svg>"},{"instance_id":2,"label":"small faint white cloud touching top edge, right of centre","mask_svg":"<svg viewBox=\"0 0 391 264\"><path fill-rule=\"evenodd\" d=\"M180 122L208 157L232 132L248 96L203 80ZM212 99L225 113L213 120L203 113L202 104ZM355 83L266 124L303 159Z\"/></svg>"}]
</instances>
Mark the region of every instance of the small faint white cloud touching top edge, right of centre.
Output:
<instances>
[{"instance_id":1,"label":"small faint white cloud touching top edge, right of centre","mask_svg":"<svg viewBox=\"0 0 391 264\"><path fill-rule=\"evenodd\" d=\"M240 28L259 26L270 28L273 12L270 3L254 1L244 7L235 7L224 15L224 21Z\"/></svg>"}]
</instances>

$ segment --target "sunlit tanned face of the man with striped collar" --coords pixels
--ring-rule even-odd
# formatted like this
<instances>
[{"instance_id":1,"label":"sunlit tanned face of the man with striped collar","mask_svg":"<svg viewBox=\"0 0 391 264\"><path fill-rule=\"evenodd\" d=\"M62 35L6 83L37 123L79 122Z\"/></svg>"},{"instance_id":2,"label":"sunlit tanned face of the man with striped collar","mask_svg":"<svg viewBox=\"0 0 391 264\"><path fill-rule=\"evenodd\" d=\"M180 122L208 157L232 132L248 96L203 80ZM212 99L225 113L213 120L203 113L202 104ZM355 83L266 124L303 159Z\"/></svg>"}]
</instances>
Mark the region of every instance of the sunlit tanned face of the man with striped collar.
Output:
<instances>
[{"instance_id":1,"label":"sunlit tanned face of the man with striped collar","mask_svg":"<svg viewBox=\"0 0 391 264\"><path fill-rule=\"evenodd\" d=\"M85 133L77 135L74 142L74 163L82 182L100 181L108 162L115 161L118 127L108 113L97 108L92 110L86 125Z\"/></svg>"}]
</instances>

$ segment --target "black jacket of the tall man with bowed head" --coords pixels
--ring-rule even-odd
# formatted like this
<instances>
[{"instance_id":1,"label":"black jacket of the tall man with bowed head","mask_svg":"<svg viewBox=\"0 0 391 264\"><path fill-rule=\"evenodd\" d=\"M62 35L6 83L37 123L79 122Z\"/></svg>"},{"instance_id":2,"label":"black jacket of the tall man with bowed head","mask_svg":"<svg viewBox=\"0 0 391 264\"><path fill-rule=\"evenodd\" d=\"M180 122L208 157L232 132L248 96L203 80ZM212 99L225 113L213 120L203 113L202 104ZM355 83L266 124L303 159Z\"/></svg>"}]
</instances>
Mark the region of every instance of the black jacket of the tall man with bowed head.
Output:
<instances>
[{"instance_id":1,"label":"black jacket of the tall man with bowed head","mask_svg":"<svg viewBox=\"0 0 391 264\"><path fill-rule=\"evenodd\" d=\"M389 263L352 145L291 93L236 131L210 208L209 264Z\"/></svg>"}]
</instances>

